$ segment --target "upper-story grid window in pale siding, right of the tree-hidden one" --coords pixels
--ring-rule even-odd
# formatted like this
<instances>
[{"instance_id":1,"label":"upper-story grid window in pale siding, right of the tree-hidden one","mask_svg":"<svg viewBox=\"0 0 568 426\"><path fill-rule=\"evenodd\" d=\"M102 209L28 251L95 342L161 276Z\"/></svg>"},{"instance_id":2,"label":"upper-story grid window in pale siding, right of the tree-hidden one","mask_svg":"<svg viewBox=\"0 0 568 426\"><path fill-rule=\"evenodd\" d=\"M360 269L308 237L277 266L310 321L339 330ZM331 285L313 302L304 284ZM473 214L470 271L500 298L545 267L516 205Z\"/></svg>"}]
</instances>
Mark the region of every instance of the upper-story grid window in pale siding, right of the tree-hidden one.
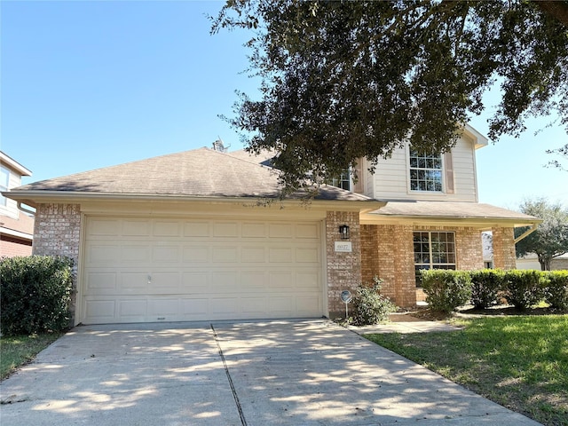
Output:
<instances>
[{"instance_id":1,"label":"upper-story grid window in pale siding, right of the tree-hidden one","mask_svg":"<svg viewBox=\"0 0 568 426\"><path fill-rule=\"evenodd\" d=\"M442 155L419 153L410 147L410 190L441 193Z\"/></svg>"}]
</instances>

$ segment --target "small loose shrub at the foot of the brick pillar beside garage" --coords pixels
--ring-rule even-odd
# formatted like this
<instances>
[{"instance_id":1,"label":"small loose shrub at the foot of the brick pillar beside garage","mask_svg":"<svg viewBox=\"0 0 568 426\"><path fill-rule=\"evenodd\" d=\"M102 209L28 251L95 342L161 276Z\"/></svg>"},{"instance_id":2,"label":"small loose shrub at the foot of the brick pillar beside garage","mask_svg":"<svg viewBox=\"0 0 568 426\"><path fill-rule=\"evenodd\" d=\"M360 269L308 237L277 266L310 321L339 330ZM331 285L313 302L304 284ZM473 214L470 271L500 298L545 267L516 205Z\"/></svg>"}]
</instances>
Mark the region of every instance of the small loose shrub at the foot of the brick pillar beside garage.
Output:
<instances>
[{"instance_id":1,"label":"small loose shrub at the foot of the brick pillar beside garage","mask_svg":"<svg viewBox=\"0 0 568 426\"><path fill-rule=\"evenodd\" d=\"M355 326L378 324L389 319L389 314L397 307L388 297L381 295L383 280L374 278L372 286L359 286L357 295L353 297L353 317L351 323Z\"/></svg>"}]
</instances>

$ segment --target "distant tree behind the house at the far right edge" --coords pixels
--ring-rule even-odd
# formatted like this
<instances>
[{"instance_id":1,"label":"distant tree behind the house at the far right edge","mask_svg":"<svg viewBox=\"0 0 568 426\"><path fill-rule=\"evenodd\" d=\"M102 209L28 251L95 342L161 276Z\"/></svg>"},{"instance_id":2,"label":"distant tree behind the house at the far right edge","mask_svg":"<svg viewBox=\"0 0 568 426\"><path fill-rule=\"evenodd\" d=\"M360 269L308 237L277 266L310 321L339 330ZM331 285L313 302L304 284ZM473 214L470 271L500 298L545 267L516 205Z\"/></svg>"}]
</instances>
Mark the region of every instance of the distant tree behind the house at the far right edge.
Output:
<instances>
[{"instance_id":1,"label":"distant tree behind the house at the far right edge","mask_svg":"<svg viewBox=\"0 0 568 426\"><path fill-rule=\"evenodd\" d=\"M524 201L521 212L540 217L543 222L537 230L517 242L517 257L535 253L539 258L540 269L550 271L550 261L568 253L568 209L561 204L550 204L546 200ZM516 236L527 228L516 230Z\"/></svg>"}]
</instances>

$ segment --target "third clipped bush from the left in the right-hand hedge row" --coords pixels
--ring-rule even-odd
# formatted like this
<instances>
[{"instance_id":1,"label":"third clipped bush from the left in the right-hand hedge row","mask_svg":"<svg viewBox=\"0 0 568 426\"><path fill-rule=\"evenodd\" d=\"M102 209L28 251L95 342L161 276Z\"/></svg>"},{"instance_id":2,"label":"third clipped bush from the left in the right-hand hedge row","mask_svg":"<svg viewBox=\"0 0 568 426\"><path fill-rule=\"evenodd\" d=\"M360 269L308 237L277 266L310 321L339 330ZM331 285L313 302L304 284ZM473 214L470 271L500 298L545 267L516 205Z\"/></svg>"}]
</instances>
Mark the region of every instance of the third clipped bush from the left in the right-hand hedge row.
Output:
<instances>
[{"instance_id":1,"label":"third clipped bush from the left in the right-hand hedge row","mask_svg":"<svg viewBox=\"0 0 568 426\"><path fill-rule=\"evenodd\" d=\"M520 311L540 303L548 283L545 274L532 269L506 271L505 281L505 297Z\"/></svg>"}]
</instances>

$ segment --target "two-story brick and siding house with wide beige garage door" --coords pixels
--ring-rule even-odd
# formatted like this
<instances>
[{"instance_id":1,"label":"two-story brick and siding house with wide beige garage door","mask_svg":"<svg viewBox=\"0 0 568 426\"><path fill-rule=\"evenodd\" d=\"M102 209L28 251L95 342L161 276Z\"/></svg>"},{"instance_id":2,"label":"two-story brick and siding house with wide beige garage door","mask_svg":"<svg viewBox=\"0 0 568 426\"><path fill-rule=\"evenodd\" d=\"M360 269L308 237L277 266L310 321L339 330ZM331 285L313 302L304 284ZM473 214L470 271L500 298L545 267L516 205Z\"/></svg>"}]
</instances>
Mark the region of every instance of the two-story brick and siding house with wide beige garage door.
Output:
<instances>
[{"instance_id":1,"label":"two-story brick and siding house with wide beige garage door","mask_svg":"<svg viewBox=\"0 0 568 426\"><path fill-rule=\"evenodd\" d=\"M406 146L307 204L303 193L278 200L269 155L207 148L8 196L36 208L37 254L75 259L75 324L337 317L342 291L375 275L413 306L417 271L482 268L482 231L493 231L495 266L515 267L514 228L540 220L477 203L485 145L468 127L441 158Z\"/></svg>"}]
</instances>

